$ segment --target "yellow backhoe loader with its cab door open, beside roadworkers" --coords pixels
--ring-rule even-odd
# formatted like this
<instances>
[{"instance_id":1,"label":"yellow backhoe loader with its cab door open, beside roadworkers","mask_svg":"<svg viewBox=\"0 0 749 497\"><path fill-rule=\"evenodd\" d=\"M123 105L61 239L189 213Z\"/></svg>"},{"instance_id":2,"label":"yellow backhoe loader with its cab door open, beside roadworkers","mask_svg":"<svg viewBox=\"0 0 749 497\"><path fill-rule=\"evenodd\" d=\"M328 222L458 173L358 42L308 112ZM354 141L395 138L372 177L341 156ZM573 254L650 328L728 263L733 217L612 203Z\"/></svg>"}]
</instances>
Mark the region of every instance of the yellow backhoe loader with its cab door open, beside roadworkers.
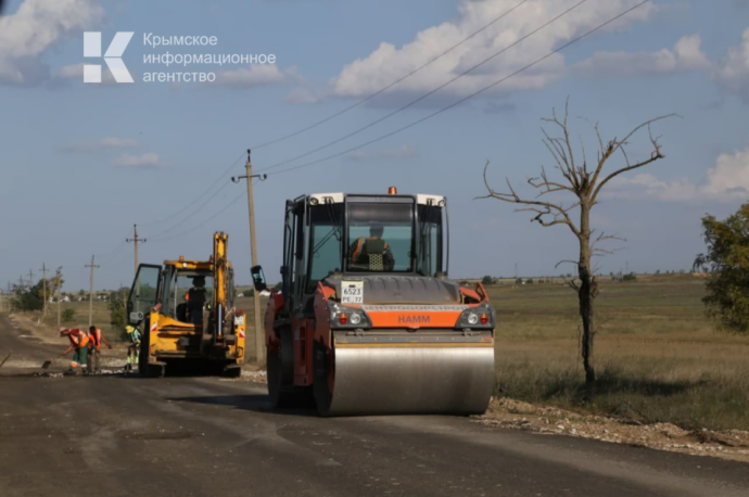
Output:
<instances>
[{"instance_id":1,"label":"yellow backhoe loader with its cab door open, beside roadworkers","mask_svg":"<svg viewBox=\"0 0 749 497\"><path fill-rule=\"evenodd\" d=\"M179 256L162 266L141 264L127 302L128 322L141 332L138 371L163 377L206 366L239 377L244 362L245 316L234 308L229 235L216 232L208 260Z\"/></svg>"}]
</instances>

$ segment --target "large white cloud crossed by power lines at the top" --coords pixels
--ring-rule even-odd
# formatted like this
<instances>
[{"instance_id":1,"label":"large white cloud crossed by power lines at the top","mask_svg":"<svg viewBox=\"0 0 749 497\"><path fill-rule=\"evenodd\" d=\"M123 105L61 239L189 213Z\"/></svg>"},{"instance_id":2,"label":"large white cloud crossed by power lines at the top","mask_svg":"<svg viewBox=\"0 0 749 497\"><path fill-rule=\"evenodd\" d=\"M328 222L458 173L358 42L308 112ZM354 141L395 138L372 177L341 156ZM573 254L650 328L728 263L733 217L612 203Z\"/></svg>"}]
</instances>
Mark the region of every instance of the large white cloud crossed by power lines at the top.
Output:
<instances>
[{"instance_id":1,"label":"large white cloud crossed by power lines at the top","mask_svg":"<svg viewBox=\"0 0 749 497\"><path fill-rule=\"evenodd\" d=\"M388 93L391 95L396 93L412 94L432 90L490 55L499 52L503 48L550 21L574 3L576 0L557 0L554 2L530 0L506 18L398 84ZM357 98L373 93L436 58L486 25L488 20L498 17L515 4L517 4L517 0L459 0L459 15L455 21L424 29L416 35L414 41L401 48L389 42L382 42L367 58L356 60L343 67L341 73L331 81L331 92L335 97L344 98ZM528 65L530 61L546 55L560 43L569 41L634 4L633 0L607 0L606 2L585 4L495 60L458 79L443 89L441 94L462 97L474 92ZM644 21L650 17L655 11L656 7L648 3L630 13L622 21L614 23L613 27L609 27L609 29L621 29L632 23ZM498 86L494 92L542 88L561 77L563 71L564 56L556 54L532 69L507 80L507 82Z\"/></svg>"}]
</instances>

